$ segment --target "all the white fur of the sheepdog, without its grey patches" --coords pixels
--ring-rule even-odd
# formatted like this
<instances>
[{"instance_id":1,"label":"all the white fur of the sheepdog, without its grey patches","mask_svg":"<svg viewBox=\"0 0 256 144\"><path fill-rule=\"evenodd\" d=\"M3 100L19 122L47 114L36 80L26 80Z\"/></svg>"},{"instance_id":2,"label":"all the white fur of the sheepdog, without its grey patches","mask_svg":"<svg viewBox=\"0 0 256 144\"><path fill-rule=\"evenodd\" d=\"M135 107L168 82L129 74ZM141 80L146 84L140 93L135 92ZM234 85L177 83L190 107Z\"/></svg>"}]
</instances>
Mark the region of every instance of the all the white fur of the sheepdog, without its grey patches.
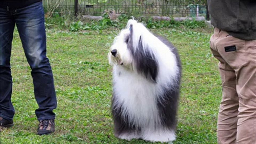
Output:
<instances>
[{"instance_id":1,"label":"all the white fur of the sheepdog, without its grey patches","mask_svg":"<svg viewBox=\"0 0 256 144\"><path fill-rule=\"evenodd\" d=\"M154 54L158 62L158 75L153 83L145 76L137 73L131 52L127 48L125 38L130 34L129 26L133 25L133 47L137 47L139 38L143 40L144 49ZM109 63L113 66L113 81L116 94L119 96L113 106L122 107L122 116L129 115L129 121L142 128L139 134L123 134L121 139L143 138L148 141L173 141L175 132L165 128L157 128L160 124L160 115L157 109L157 96L163 93L163 88L170 87L176 81L179 71L174 53L155 37L141 23L129 20L127 27L115 38L110 51L116 49L116 57L109 53ZM137 50L137 49L135 49ZM123 65L121 65L123 63Z\"/></svg>"}]
</instances>

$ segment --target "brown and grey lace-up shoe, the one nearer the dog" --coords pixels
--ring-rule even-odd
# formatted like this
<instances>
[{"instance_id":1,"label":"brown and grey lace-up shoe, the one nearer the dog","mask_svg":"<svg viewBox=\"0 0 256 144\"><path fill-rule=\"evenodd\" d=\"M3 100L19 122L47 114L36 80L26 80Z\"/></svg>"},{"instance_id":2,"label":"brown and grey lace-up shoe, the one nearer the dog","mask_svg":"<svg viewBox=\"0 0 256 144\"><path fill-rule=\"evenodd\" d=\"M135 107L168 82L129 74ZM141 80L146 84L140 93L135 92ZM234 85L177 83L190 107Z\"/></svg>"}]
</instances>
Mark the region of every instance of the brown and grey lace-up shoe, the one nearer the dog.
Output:
<instances>
[{"instance_id":1,"label":"brown and grey lace-up shoe, the one nearer the dog","mask_svg":"<svg viewBox=\"0 0 256 144\"><path fill-rule=\"evenodd\" d=\"M54 131L54 119L40 120L37 130L38 135L47 135L53 133Z\"/></svg>"}]
</instances>

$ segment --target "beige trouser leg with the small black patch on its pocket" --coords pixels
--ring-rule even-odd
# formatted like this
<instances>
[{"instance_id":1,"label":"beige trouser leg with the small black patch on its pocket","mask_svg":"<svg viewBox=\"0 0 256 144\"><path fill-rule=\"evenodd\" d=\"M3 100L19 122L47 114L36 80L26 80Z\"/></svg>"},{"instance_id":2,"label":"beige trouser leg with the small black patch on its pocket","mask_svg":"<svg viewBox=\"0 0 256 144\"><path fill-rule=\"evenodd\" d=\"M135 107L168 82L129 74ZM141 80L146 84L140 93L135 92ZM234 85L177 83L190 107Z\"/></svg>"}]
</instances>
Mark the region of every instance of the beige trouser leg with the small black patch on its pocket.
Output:
<instances>
[{"instance_id":1,"label":"beige trouser leg with the small black patch on its pocket","mask_svg":"<svg viewBox=\"0 0 256 144\"><path fill-rule=\"evenodd\" d=\"M221 31L215 48L235 71L239 97L235 144L256 144L256 41L244 41Z\"/></svg>"}]
</instances>

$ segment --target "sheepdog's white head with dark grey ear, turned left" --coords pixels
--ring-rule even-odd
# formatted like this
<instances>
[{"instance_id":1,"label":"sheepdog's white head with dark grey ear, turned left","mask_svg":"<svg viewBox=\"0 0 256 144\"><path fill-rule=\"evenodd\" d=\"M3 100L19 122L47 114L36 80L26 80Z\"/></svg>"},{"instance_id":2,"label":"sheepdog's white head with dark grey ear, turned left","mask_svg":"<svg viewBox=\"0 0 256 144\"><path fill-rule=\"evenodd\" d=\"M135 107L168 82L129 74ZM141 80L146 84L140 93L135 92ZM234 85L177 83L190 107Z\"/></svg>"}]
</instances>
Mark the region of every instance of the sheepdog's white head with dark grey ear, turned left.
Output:
<instances>
[{"instance_id":1,"label":"sheepdog's white head with dark grey ear, turned left","mask_svg":"<svg viewBox=\"0 0 256 144\"><path fill-rule=\"evenodd\" d=\"M156 37L141 23L130 19L115 38L109 51L109 62L142 73L156 80L157 61L154 55Z\"/></svg>"}]
</instances>

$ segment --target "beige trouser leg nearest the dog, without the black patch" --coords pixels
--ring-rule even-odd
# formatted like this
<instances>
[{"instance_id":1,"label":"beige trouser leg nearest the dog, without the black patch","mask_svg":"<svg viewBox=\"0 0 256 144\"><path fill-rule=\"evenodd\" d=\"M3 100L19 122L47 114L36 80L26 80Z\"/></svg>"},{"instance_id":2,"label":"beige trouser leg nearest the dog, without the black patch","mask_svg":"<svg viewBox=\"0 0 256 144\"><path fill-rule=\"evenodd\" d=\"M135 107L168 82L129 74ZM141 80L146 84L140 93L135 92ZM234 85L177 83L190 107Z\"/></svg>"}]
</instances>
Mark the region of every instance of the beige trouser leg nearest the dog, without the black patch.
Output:
<instances>
[{"instance_id":1,"label":"beige trouser leg nearest the dog, without the black patch","mask_svg":"<svg viewBox=\"0 0 256 144\"><path fill-rule=\"evenodd\" d=\"M216 59L219 60L219 72L222 79L222 101L219 106L217 138L218 144L235 144L237 135L238 95L235 84L235 71L221 57L215 47L220 40L219 30L211 37L210 47Z\"/></svg>"}]
</instances>

